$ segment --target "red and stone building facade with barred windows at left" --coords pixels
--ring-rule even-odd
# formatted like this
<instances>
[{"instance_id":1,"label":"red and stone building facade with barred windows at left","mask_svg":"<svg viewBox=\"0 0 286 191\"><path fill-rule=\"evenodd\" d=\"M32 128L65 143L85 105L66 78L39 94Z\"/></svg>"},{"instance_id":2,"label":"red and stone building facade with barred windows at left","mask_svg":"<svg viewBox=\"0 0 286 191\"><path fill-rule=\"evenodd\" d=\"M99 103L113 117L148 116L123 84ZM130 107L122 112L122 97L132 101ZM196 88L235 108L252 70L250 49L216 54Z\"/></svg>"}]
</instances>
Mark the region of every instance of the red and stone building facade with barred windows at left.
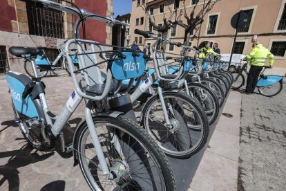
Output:
<instances>
[{"instance_id":1,"label":"red and stone building facade with barred windows at left","mask_svg":"<svg viewBox=\"0 0 286 191\"><path fill-rule=\"evenodd\" d=\"M61 0L52 0L70 6ZM70 0L79 8L106 17L112 15L113 0ZM52 10L35 3L19 0L1 1L0 19L0 75L8 69L24 72L23 60L8 53L10 46L42 47L53 59L57 48L66 39L73 38L75 16ZM87 21L86 38L111 44L112 30L99 21Z\"/></svg>"}]
</instances>

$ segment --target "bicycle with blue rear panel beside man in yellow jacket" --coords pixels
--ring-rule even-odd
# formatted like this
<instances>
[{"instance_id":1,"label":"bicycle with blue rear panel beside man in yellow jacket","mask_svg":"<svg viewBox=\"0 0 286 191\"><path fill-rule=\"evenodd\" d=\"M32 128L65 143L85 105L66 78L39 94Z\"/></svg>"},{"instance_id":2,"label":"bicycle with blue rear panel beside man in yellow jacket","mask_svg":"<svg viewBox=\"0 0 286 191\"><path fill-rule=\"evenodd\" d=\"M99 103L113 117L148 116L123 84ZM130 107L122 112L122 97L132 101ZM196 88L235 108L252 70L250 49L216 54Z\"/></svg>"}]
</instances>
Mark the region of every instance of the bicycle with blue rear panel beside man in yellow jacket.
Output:
<instances>
[{"instance_id":1,"label":"bicycle with blue rear panel beside man in yellow jacket","mask_svg":"<svg viewBox=\"0 0 286 191\"><path fill-rule=\"evenodd\" d=\"M233 84L231 89L240 89L245 84L245 75L242 73L245 72L248 75L247 64L243 64L242 68L239 71L234 71L231 74L233 75ZM264 75L265 69L271 69L271 66L263 66L263 71L260 73L260 78L256 87L258 92L263 96L272 97L276 96L283 88L283 76L282 75Z\"/></svg>"}]
</instances>

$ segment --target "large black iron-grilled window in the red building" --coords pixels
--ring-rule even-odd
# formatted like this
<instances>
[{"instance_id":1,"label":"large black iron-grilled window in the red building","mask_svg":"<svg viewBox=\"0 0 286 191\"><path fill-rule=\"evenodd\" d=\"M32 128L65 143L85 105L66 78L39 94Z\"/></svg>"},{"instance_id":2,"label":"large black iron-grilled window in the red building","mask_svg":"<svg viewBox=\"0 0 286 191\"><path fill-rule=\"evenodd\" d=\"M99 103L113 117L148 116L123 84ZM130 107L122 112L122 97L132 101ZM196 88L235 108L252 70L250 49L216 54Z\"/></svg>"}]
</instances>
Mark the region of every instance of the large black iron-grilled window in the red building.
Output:
<instances>
[{"instance_id":1,"label":"large black iron-grilled window in the red building","mask_svg":"<svg viewBox=\"0 0 286 191\"><path fill-rule=\"evenodd\" d=\"M56 1L59 2L59 1ZM64 12L26 2L30 35L64 38Z\"/></svg>"}]
</instances>

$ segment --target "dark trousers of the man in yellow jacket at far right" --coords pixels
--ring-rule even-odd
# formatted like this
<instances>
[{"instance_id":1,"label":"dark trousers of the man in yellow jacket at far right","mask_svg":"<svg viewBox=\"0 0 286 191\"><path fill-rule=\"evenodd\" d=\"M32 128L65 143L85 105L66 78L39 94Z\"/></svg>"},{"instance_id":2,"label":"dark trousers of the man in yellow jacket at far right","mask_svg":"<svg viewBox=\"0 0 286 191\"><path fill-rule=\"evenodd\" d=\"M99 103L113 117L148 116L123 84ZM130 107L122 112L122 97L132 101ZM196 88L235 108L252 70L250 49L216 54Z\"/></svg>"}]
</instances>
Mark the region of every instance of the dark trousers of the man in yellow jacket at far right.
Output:
<instances>
[{"instance_id":1,"label":"dark trousers of the man in yellow jacket at far right","mask_svg":"<svg viewBox=\"0 0 286 191\"><path fill-rule=\"evenodd\" d=\"M262 71L262 66L251 66L248 76L247 76L247 87L246 91L249 93L254 93L254 89L257 84L257 80L259 77L260 72Z\"/></svg>"}]
</instances>

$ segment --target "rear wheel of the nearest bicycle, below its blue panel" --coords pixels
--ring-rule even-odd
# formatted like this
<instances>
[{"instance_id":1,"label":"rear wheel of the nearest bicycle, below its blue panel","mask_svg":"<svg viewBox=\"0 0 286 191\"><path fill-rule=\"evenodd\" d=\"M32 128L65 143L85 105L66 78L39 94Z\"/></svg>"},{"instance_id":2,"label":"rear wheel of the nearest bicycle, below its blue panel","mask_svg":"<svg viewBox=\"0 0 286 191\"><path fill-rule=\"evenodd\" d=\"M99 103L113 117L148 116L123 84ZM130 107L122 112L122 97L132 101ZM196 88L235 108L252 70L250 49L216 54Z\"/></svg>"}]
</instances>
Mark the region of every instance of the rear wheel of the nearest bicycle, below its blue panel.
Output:
<instances>
[{"instance_id":1,"label":"rear wheel of the nearest bicycle, below its blue panel","mask_svg":"<svg viewBox=\"0 0 286 191\"><path fill-rule=\"evenodd\" d=\"M42 118L44 120L44 113L39 111L39 109L41 108L39 107L39 105L41 104L40 100L33 100L33 102L36 106L39 118ZM15 109L13 102L12 102L12 108L14 111L15 118L21 118L21 120L30 119L30 118L26 118L25 116L22 116L21 114L19 114L19 112ZM19 129L21 130L23 137L27 140L27 142L30 145L32 145L34 149L37 149L39 151L44 151L44 152L55 150L54 140L49 139L50 143L49 144L45 143L44 138L41 134L41 125L39 125L38 127L33 127L31 129L29 129L27 125L25 124L25 122L23 121L18 122L18 125L19 125Z\"/></svg>"}]
</instances>

